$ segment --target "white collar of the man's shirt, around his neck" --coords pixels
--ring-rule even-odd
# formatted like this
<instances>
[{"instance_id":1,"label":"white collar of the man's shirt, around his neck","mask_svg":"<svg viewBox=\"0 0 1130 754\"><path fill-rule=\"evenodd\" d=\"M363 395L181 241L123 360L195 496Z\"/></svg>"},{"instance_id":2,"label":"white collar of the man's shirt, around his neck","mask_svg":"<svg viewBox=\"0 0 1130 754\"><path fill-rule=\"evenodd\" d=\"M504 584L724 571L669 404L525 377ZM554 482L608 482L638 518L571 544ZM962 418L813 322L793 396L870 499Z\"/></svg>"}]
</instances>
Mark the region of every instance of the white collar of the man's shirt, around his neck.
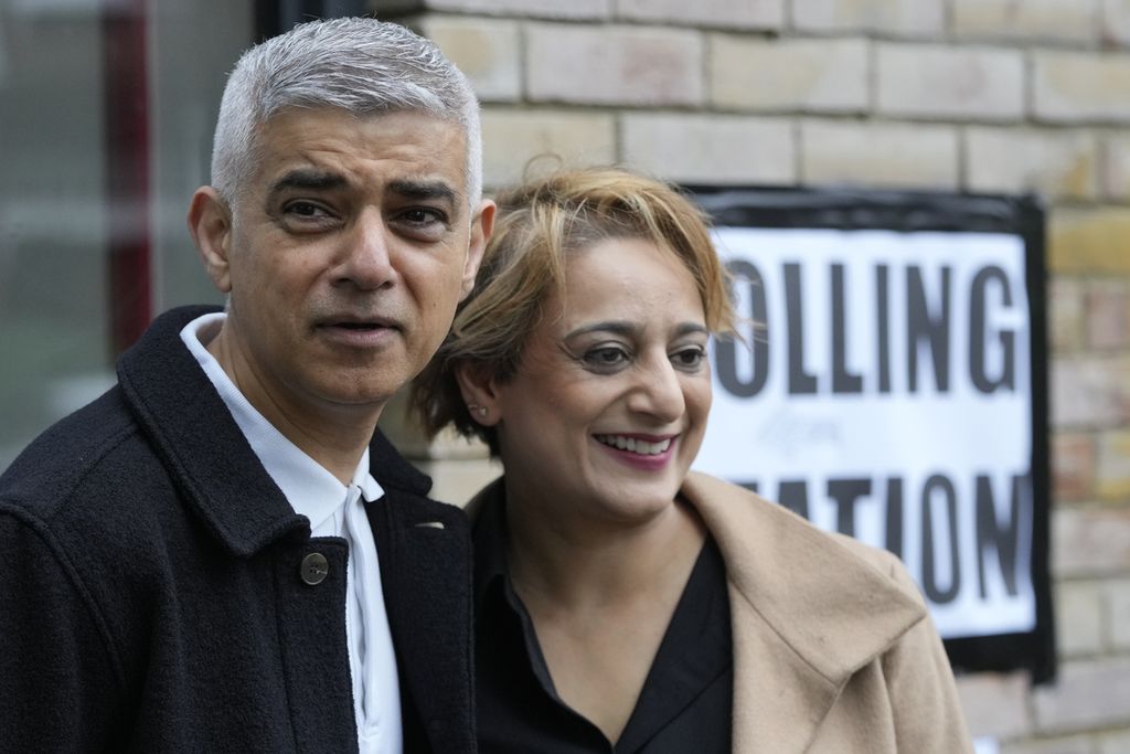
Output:
<instances>
[{"instance_id":1,"label":"white collar of the man's shirt, around his neck","mask_svg":"<svg viewBox=\"0 0 1130 754\"><path fill-rule=\"evenodd\" d=\"M268 422L240 392L224 367L205 347L205 341L211 340L219 332L226 317L224 312L199 317L181 330L181 339L216 387L216 392L232 413L267 474L282 491L295 512L310 519L311 529L316 530L341 506L348 488ZM373 502L384 494L370 473L368 448L354 470L351 485L360 488L366 502Z\"/></svg>"}]
</instances>

